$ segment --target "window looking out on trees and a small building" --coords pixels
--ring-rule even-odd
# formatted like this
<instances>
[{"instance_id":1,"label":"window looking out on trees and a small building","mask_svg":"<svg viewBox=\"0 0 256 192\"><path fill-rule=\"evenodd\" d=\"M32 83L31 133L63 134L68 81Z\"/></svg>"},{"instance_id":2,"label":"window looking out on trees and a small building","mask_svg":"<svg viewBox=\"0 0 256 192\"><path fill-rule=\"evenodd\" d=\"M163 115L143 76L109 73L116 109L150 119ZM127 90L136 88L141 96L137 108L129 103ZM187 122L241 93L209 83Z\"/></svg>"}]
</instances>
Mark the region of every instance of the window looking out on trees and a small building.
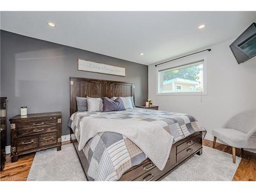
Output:
<instances>
[{"instance_id":1,"label":"window looking out on trees and a small building","mask_svg":"<svg viewBox=\"0 0 256 192\"><path fill-rule=\"evenodd\" d=\"M204 93L205 63L199 60L158 71L158 94Z\"/></svg>"}]
</instances>

